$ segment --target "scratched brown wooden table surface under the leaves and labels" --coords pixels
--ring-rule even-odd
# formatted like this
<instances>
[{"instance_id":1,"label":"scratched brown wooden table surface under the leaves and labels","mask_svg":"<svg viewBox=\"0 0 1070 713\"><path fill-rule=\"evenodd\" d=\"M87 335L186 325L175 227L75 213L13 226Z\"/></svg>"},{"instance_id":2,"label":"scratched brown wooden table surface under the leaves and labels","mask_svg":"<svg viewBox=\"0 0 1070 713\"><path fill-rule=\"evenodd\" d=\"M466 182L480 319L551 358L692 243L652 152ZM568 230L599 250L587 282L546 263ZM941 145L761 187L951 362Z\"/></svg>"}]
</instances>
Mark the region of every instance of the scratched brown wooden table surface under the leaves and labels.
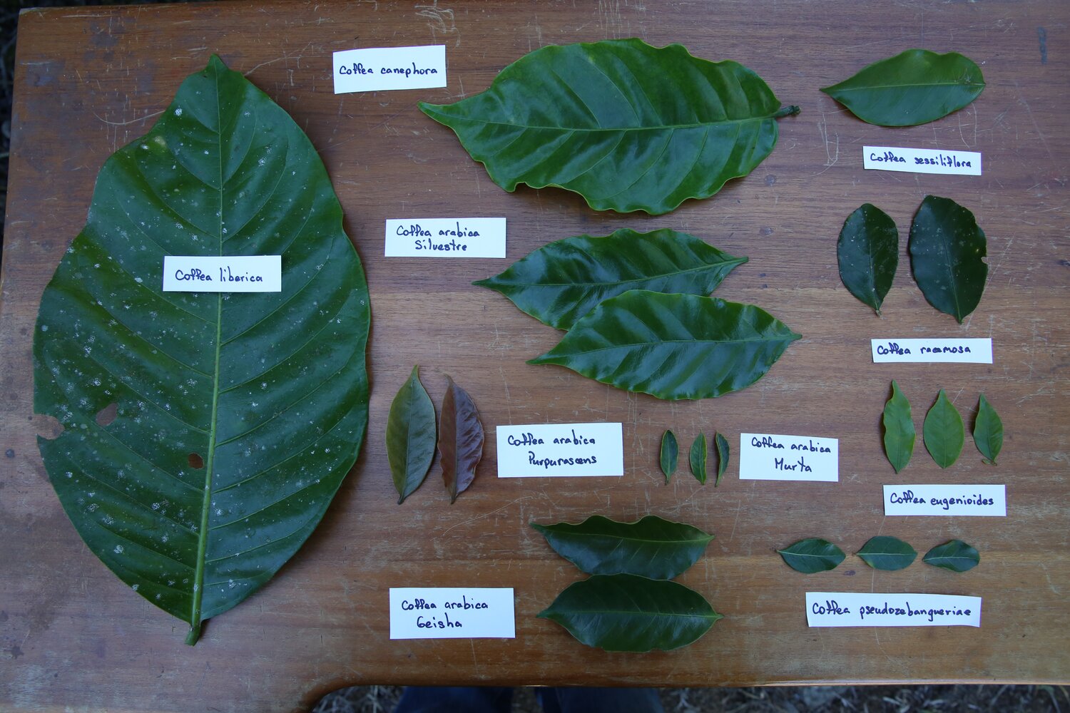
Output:
<instances>
[{"instance_id":1,"label":"scratched brown wooden table surface under the leaves and labels","mask_svg":"<svg viewBox=\"0 0 1070 713\"><path fill-rule=\"evenodd\" d=\"M503 191L454 135L416 108L482 91L506 64L548 44L639 36L754 69L799 115L773 154L720 193L660 217L591 211L556 189ZM444 44L448 87L335 95L332 52ZM911 47L960 51L988 88L937 122L865 124L819 88ZM63 513L35 446L31 336L42 291L86 219L103 161L142 135L181 80L211 53L287 109L326 164L364 261L373 326L364 449L319 529L276 577L212 619L196 647L186 626L124 586ZM219 2L28 11L19 21L16 103L0 312L0 709L288 711L355 683L743 685L817 682L1070 681L1070 4L1038 2ZM978 151L982 176L863 171L862 145ZM978 309L958 325L911 279L905 234L928 193L953 198L989 241ZM863 202L901 235L884 316L840 282L836 238ZM384 220L505 216L508 260L384 259ZM804 337L758 384L717 400L663 402L557 367L525 365L557 332L471 285L550 241L623 227L693 233L750 262L718 295L763 306ZM992 365L874 365L869 340L991 337ZM384 448L386 412L413 363L432 400L449 374L498 424L624 424L625 475L498 479L488 437L476 481L454 505L438 465L401 507ZM1006 427L997 467L968 436L941 470L919 437L897 476L881 412L895 378L915 423L946 389L973 423L978 394ZM838 483L740 481L686 471L666 485L661 433L686 448L700 432L840 439ZM884 483L1006 483L1008 514L885 517ZM725 618L692 646L606 653L536 619L581 578L529 523L654 513L717 538L681 582ZM875 534L920 552L959 538L980 567L953 575L920 562L869 570L851 555ZM849 559L805 576L774 552L806 537ZM511 587L515 639L392 641L387 590ZM804 594L932 592L983 598L973 627L808 629Z\"/></svg>"}]
</instances>

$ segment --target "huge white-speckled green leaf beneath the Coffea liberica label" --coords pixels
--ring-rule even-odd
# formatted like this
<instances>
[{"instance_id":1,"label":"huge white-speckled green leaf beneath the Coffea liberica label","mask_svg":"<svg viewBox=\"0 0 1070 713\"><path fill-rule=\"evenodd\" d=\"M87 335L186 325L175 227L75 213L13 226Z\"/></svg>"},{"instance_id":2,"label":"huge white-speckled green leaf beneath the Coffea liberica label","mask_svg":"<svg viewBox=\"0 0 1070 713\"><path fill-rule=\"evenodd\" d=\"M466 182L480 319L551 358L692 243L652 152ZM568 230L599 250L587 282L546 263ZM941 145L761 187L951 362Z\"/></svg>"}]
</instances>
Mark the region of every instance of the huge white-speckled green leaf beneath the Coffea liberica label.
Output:
<instances>
[{"instance_id":1,"label":"huge white-speckled green leaf beneath the Coffea liberica label","mask_svg":"<svg viewBox=\"0 0 1070 713\"><path fill-rule=\"evenodd\" d=\"M89 548L190 625L264 584L356 460L368 290L308 138L213 57L97 176L41 300L39 446ZM164 255L280 254L277 293L162 292ZM114 420L97 418L114 404Z\"/></svg>"}]
</instances>

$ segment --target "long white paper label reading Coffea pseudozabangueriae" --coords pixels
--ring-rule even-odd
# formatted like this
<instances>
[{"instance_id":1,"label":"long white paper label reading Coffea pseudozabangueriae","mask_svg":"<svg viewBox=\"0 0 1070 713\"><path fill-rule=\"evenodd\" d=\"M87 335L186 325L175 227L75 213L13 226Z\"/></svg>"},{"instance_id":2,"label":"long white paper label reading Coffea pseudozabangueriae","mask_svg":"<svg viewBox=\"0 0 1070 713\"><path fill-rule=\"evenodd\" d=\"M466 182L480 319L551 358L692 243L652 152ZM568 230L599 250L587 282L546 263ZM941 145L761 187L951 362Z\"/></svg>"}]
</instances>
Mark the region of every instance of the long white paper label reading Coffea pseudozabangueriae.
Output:
<instances>
[{"instance_id":1,"label":"long white paper label reading Coffea pseudozabangueriae","mask_svg":"<svg viewBox=\"0 0 1070 713\"><path fill-rule=\"evenodd\" d=\"M980 626L981 598L807 592L810 626Z\"/></svg>"}]
</instances>

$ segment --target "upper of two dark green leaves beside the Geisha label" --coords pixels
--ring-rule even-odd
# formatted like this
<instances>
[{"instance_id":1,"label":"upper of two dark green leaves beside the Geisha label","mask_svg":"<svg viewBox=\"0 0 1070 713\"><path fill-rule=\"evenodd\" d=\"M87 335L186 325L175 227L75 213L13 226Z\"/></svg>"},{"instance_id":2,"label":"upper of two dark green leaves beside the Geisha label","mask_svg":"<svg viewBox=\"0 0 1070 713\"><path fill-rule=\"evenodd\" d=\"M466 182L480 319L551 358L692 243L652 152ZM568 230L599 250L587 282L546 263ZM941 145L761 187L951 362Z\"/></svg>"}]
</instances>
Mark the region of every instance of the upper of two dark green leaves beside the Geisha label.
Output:
<instances>
[{"instance_id":1,"label":"upper of two dark green leaves beside the Geisha label","mask_svg":"<svg viewBox=\"0 0 1070 713\"><path fill-rule=\"evenodd\" d=\"M579 525L532 523L532 527L546 536L559 555L587 574L625 572L651 579L683 574L714 539L697 527L657 515L635 523L592 515Z\"/></svg>"}]
</instances>

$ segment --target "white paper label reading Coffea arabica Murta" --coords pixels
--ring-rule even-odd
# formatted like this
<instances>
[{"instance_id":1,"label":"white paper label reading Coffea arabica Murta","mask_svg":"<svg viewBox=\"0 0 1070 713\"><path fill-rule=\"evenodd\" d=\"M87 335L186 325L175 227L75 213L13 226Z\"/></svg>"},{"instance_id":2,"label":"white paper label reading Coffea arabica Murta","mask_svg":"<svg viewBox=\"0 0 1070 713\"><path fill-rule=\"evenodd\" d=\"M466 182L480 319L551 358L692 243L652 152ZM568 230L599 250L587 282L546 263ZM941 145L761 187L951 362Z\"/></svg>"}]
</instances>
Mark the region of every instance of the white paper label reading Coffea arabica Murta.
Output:
<instances>
[{"instance_id":1,"label":"white paper label reading Coffea arabica Murta","mask_svg":"<svg viewBox=\"0 0 1070 713\"><path fill-rule=\"evenodd\" d=\"M816 436L739 434L740 480L840 479L840 441Z\"/></svg>"}]
</instances>

